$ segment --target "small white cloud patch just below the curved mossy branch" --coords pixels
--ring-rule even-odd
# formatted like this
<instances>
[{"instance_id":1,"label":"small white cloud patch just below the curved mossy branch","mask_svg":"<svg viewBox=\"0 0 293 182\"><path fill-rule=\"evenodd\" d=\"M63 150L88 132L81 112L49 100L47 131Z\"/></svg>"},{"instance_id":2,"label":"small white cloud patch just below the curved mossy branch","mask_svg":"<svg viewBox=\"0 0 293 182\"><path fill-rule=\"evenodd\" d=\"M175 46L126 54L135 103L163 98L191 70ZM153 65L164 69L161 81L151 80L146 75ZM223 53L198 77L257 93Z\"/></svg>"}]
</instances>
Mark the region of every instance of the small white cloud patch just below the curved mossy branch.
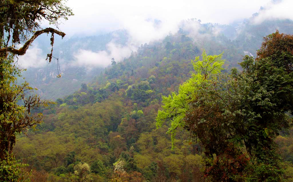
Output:
<instances>
[{"instance_id":1,"label":"small white cloud patch just below the curved mossy branch","mask_svg":"<svg viewBox=\"0 0 293 182\"><path fill-rule=\"evenodd\" d=\"M20 45L21 46L21 45ZM47 61L45 61L43 51L38 47L38 44L35 43L33 46L31 46L23 56L17 56L18 57L18 65L22 68L39 68L44 67L46 64L48 64ZM16 61L17 58L14 58Z\"/></svg>"}]
</instances>

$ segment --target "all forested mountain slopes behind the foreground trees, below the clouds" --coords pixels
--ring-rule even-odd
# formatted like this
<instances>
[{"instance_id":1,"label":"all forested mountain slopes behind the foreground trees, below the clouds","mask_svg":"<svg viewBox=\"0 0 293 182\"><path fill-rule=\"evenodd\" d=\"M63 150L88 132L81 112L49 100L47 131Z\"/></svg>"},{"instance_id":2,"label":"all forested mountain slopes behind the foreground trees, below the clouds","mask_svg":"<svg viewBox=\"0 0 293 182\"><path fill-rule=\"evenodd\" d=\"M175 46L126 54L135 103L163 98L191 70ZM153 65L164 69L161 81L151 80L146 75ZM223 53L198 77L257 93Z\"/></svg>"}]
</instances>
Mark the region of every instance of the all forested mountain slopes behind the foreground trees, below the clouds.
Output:
<instances>
[{"instance_id":1,"label":"all forested mountain slopes behind the foreground trees, below the clouds","mask_svg":"<svg viewBox=\"0 0 293 182\"><path fill-rule=\"evenodd\" d=\"M35 111L42 111L45 120L18 136L13 149L16 158L29 164L36 181L204 181L202 146L186 131L178 131L171 150L171 138L166 134L170 123L156 128L162 95L178 91L194 72L191 61L204 50L207 55L224 52L222 72L230 72L233 67L241 69L238 63L243 56L256 55L264 36L276 29L293 33L291 20L254 24L255 16L237 26L185 20L178 32L142 44L105 69L88 71L86 66L68 65L72 53L80 48L105 50L114 34L116 44L127 45L127 32L60 43L54 48L60 60L60 79L55 78L54 61L24 74L46 98L60 98L57 104ZM104 61L111 64L111 60ZM292 130L276 138L291 181L292 140Z\"/></svg>"}]
</instances>

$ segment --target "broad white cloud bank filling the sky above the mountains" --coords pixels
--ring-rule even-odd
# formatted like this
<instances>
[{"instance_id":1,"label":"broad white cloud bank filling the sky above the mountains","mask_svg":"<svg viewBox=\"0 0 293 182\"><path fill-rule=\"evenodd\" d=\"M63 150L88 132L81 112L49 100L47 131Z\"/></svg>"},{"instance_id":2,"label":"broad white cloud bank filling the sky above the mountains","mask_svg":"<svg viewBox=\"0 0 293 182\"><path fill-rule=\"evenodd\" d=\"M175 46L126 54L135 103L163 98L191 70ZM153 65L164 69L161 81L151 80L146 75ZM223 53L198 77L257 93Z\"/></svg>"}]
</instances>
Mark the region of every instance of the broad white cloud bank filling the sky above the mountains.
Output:
<instances>
[{"instance_id":1,"label":"broad white cloud bank filling the sky above the mountains","mask_svg":"<svg viewBox=\"0 0 293 182\"><path fill-rule=\"evenodd\" d=\"M227 24L236 19L250 17L269 0L70 0L68 6L75 16L60 25L69 37L73 34L91 35L95 32L110 32L126 29L133 41L149 43L163 38L170 31L178 30L181 20L197 18L202 22ZM161 26L154 27L149 19L161 20Z\"/></svg>"}]
</instances>

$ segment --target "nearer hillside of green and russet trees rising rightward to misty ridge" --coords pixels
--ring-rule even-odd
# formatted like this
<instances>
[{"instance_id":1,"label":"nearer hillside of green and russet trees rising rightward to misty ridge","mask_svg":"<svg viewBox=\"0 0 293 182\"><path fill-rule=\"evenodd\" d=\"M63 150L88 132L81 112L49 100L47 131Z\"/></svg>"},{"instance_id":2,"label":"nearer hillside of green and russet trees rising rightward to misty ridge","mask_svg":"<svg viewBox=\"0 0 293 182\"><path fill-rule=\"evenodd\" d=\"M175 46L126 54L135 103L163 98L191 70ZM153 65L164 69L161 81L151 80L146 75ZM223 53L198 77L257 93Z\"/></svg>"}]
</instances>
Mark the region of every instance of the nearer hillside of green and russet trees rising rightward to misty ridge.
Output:
<instances>
[{"instance_id":1,"label":"nearer hillside of green and russet trees rising rightward to misty ridge","mask_svg":"<svg viewBox=\"0 0 293 182\"><path fill-rule=\"evenodd\" d=\"M212 51L216 48L207 50L208 54L220 53ZM45 122L19 136L14 147L16 157L29 164L35 171L33 176L42 174L49 181L81 178L85 181L208 180L212 174L202 170L203 154L207 152L203 140L193 140L182 128L177 130L172 144L166 134L172 127L170 123L156 127L162 96L177 93L180 84L197 73L188 57L201 53L196 42L178 32L168 35L161 43L141 46L122 62L114 60L115 63L97 75L91 84L82 84L79 91L57 99L57 104L50 109L42 109ZM227 54L229 52L222 54L222 58L226 58L222 73L230 72L235 65ZM280 126L272 134L271 130L261 128L261 131L268 135L280 132L277 138L271 137L279 144L280 165L285 166L285 170L276 173L292 178L292 130ZM247 160L246 155L246 159L241 160ZM80 174L77 175L76 170L80 170ZM218 175L218 178L231 180L229 175ZM274 180L278 181L278 177Z\"/></svg>"}]
</instances>

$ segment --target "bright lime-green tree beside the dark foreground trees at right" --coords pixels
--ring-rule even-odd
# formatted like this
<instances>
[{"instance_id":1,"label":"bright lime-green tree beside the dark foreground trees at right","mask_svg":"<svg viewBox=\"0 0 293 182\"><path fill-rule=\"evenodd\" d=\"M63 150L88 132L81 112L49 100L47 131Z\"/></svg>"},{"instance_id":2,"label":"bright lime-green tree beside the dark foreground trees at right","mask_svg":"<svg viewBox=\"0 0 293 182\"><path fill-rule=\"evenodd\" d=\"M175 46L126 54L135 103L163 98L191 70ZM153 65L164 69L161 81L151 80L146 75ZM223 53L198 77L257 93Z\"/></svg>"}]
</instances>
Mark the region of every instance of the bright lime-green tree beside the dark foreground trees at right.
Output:
<instances>
[{"instance_id":1,"label":"bright lime-green tree beside the dark foreground trees at right","mask_svg":"<svg viewBox=\"0 0 293 182\"><path fill-rule=\"evenodd\" d=\"M223 70L224 60L222 60L222 54L207 56L203 51L202 60L198 56L192 61L195 73L179 86L178 93L172 92L168 97L162 97L163 110L158 112L156 125L159 127L166 120L171 120L171 127L167 133L171 134L172 143L174 143L176 129L184 126L183 118L190 108L190 103L193 102L195 95L198 94L197 87Z\"/></svg>"}]
</instances>

